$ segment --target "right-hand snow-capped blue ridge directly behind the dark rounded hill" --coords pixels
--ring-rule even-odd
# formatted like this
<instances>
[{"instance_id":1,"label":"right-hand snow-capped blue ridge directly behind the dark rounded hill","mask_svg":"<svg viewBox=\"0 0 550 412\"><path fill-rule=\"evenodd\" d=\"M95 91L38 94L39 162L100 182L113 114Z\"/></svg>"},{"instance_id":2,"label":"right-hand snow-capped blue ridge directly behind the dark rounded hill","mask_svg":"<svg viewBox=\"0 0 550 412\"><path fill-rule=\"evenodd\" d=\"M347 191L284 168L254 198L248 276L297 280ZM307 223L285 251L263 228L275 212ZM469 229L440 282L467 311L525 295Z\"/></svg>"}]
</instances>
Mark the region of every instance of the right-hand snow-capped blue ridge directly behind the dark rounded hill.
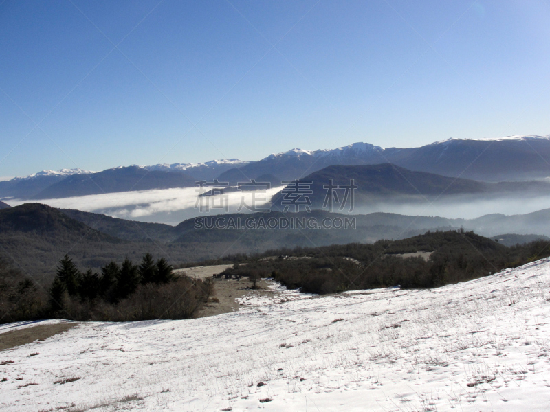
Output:
<instances>
[{"instance_id":1,"label":"right-hand snow-capped blue ridge directly behind the dark rounded hill","mask_svg":"<svg viewBox=\"0 0 550 412\"><path fill-rule=\"evenodd\" d=\"M333 150L292 149L228 170L220 181L275 174L303 178L331 165L393 163L415 170L478 181L527 181L550 176L550 135L502 139L447 139L419 148L382 148L355 143Z\"/></svg>"}]
</instances>

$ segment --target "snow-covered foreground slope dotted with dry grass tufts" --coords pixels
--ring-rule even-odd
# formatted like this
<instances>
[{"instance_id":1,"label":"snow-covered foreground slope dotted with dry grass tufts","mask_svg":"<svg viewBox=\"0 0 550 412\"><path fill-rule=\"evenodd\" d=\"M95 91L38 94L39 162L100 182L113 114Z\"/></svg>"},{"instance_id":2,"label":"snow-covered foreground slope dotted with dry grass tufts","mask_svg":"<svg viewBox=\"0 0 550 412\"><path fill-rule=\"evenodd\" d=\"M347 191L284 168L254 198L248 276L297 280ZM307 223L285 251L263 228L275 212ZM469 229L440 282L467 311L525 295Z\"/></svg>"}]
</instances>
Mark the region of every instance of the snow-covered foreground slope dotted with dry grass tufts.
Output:
<instances>
[{"instance_id":1,"label":"snow-covered foreground slope dotted with dry grass tufts","mask_svg":"<svg viewBox=\"0 0 550 412\"><path fill-rule=\"evenodd\" d=\"M0 365L13 361L0 366L0 406L550 411L549 292L547 259L432 290L259 300L188 321L85 323L0 352Z\"/></svg>"}]
</instances>

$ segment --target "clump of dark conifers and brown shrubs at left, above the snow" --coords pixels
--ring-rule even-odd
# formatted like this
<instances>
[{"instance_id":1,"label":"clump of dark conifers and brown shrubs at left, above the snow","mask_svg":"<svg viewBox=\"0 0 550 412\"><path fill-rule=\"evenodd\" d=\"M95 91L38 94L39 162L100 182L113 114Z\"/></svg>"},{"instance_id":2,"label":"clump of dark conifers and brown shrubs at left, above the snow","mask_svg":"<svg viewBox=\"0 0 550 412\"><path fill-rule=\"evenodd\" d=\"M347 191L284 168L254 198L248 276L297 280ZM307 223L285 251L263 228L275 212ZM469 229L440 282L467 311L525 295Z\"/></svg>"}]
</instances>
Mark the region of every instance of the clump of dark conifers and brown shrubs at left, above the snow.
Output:
<instances>
[{"instance_id":1,"label":"clump of dark conifers and brown shrubs at left, above the snow","mask_svg":"<svg viewBox=\"0 0 550 412\"><path fill-rule=\"evenodd\" d=\"M79 321L187 319L212 294L210 280L176 276L166 259L146 253L94 272L80 271L65 255L48 287L0 262L0 323L64 318Z\"/></svg>"}]
</instances>

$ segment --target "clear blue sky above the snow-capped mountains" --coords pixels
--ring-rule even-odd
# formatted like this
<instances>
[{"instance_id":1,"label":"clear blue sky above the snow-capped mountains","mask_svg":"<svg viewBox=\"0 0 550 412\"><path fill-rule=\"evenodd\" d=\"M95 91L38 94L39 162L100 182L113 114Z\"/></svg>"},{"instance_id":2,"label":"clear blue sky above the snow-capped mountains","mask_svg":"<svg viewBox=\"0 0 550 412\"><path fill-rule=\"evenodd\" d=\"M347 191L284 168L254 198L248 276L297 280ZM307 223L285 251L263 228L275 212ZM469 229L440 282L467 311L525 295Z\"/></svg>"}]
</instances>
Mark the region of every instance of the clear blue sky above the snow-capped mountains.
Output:
<instances>
[{"instance_id":1,"label":"clear blue sky above the snow-capped mountains","mask_svg":"<svg viewBox=\"0 0 550 412\"><path fill-rule=\"evenodd\" d=\"M0 176L550 134L550 0L0 0Z\"/></svg>"}]
</instances>

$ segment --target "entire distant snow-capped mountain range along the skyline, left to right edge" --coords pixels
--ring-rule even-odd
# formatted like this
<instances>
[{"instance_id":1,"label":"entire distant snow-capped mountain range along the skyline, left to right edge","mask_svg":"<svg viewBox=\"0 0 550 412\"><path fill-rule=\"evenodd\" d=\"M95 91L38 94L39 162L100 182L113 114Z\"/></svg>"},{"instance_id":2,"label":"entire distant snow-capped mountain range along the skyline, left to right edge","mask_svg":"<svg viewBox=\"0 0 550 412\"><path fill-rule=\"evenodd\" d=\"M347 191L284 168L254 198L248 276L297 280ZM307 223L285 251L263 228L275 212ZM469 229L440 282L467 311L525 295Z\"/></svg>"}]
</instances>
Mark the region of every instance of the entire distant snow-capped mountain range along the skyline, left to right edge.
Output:
<instances>
[{"instance_id":1,"label":"entire distant snow-capped mountain range along the skyline, left to right edge","mask_svg":"<svg viewBox=\"0 0 550 412\"><path fill-rule=\"evenodd\" d=\"M355 143L333 150L292 149L259 161L132 165L88 172L44 171L0 182L0 198L44 199L103 192L186 187L218 179L231 185L260 178L272 184L303 178L333 165L392 163L416 172L477 181L530 181L550 176L550 135L504 139L448 139L419 148ZM150 176L151 175L151 176Z\"/></svg>"}]
</instances>

